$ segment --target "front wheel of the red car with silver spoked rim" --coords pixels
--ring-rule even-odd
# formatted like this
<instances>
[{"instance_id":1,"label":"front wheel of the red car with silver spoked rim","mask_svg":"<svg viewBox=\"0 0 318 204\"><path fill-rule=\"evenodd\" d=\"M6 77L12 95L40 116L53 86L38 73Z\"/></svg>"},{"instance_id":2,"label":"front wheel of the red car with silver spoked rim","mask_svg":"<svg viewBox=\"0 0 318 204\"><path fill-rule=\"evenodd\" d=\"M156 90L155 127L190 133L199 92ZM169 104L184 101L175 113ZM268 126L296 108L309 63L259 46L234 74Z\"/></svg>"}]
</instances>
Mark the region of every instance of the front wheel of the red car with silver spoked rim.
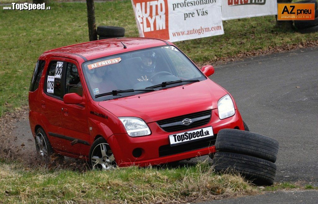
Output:
<instances>
[{"instance_id":1,"label":"front wheel of the red car with silver spoked rim","mask_svg":"<svg viewBox=\"0 0 318 204\"><path fill-rule=\"evenodd\" d=\"M89 166L93 170L109 170L116 166L114 154L104 137L96 139L89 152Z\"/></svg>"}]
</instances>

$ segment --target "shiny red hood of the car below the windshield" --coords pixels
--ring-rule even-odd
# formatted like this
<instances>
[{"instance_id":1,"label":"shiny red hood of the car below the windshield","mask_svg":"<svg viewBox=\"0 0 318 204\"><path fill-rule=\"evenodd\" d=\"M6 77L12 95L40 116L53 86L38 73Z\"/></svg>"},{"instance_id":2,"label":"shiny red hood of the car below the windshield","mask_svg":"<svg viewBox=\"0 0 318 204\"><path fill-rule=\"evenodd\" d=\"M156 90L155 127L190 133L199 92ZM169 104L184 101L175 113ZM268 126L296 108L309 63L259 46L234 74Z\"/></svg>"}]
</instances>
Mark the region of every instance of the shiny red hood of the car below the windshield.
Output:
<instances>
[{"instance_id":1,"label":"shiny red hood of the car below the windshield","mask_svg":"<svg viewBox=\"0 0 318 204\"><path fill-rule=\"evenodd\" d=\"M99 102L117 117L139 117L146 123L216 109L227 92L210 79L159 91Z\"/></svg>"}]
</instances>

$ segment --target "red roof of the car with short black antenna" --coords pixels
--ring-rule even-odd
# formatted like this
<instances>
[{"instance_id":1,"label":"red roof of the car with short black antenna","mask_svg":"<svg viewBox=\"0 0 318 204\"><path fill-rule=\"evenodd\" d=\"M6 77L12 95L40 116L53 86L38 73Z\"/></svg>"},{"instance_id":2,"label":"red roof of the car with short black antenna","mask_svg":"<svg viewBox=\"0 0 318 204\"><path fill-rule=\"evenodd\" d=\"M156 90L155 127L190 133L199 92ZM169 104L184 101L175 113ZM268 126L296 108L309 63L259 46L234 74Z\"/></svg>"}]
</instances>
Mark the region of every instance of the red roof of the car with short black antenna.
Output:
<instances>
[{"instance_id":1,"label":"red roof of the car with short black antenna","mask_svg":"<svg viewBox=\"0 0 318 204\"><path fill-rule=\"evenodd\" d=\"M127 48L124 48L124 46ZM58 53L59 56L64 54L77 55L84 61L106 57L114 54L126 53L135 50L146 49L156 46L172 45L172 43L152 38L123 38L123 39L104 39L91 42L80 43L76 45L60 47L45 51L44 54Z\"/></svg>"}]
</instances>

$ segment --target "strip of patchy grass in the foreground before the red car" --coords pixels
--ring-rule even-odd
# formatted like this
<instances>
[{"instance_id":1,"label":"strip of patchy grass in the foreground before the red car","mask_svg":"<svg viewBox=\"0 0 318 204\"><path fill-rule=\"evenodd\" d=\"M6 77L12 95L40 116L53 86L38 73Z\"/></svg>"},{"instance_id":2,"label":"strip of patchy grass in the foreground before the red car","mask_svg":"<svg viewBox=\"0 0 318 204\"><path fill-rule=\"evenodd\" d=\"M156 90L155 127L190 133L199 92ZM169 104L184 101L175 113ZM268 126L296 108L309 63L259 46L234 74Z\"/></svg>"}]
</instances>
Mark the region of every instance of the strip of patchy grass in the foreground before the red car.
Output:
<instances>
[{"instance_id":1,"label":"strip of patchy grass in the foreground before the red car","mask_svg":"<svg viewBox=\"0 0 318 204\"><path fill-rule=\"evenodd\" d=\"M0 162L0 189L0 203L185 203L258 192L241 177L215 174L204 163L79 172Z\"/></svg>"}]
</instances>

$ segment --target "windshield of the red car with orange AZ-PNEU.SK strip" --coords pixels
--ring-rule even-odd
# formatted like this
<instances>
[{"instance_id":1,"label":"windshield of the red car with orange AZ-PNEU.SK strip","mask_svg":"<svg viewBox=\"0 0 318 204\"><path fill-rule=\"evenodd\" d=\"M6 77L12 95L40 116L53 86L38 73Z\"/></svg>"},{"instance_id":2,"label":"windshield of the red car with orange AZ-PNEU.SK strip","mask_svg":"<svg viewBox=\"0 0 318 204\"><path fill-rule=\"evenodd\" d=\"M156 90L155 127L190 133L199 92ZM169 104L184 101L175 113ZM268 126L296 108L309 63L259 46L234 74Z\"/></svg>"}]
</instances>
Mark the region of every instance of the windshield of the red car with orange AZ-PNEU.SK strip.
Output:
<instances>
[{"instance_id":1,"label":"windshield of the red car with orange AZ-PNEU.SK strip","mask_svg":"<svg viewBox=\"0 0 318 204\"><path fill-rule=\"evenodd\" d=\"M90 94L96 101L206 79L174 46L155 47L91 60L85 62L82 68Z\"/></svg>"}]
</instances>

